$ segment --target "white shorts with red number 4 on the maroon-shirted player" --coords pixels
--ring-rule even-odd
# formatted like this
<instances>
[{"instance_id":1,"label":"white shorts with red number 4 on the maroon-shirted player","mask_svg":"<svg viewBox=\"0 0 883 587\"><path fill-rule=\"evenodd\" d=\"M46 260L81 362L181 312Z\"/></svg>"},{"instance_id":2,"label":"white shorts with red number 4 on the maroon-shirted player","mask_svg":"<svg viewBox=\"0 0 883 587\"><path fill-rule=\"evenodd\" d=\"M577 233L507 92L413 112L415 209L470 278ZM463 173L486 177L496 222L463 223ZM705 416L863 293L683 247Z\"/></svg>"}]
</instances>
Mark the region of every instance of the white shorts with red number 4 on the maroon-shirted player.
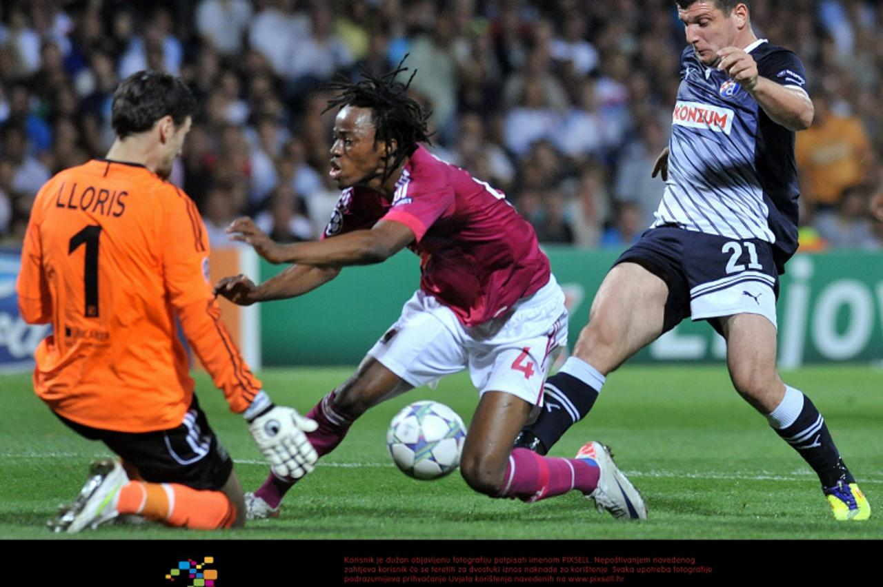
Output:
<instances>
[{"instance_id":1,"label":"white shorts with red number 4 on the maroon-shirted player","mask_svg":"<svg viewBox=\"0 0 883 587\"><path fill-rule=\"evenodd\" d=\"M542 405L553 353L567 345L567 319L555 276L504 316L471 328L418 291L368 354L414 387L469 368L480 394L505 391Z\"/></svg>"}]
</instances>

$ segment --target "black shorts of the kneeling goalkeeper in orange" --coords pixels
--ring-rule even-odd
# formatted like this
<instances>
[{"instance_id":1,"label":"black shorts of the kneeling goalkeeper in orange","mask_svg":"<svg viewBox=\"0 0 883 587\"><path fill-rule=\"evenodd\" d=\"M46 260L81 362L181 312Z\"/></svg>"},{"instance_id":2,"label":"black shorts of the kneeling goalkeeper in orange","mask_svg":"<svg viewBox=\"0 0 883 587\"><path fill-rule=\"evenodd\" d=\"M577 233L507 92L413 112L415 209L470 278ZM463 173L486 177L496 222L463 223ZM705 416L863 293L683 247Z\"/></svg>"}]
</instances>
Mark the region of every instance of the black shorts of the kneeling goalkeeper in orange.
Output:
<instances>
[{"instance_id":1,"label":"black shorts of the kneeling goalkeeper in orange","mask_svg":"<svg viewBox=\"0 0 883 587\"><path fill-rule=\"evenodd\" d=\"M104 442L150 483L180 483L193 489L219 491L233 471L233 461L208 426L195 395L181 426L170 430L115 432L56 416L77 434Z\"/></svg>"}]
</instances>

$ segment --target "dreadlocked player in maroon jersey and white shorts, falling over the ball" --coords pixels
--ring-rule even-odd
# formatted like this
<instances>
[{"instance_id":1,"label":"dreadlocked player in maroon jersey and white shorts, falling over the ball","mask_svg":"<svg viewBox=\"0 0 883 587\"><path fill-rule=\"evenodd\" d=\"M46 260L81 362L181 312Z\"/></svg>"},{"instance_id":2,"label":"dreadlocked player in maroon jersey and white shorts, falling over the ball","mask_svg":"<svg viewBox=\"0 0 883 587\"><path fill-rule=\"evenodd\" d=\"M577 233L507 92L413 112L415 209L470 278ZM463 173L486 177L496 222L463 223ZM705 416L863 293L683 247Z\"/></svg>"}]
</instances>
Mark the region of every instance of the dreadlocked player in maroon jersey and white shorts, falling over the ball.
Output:
<instances>
[{"instance_id":1,"label":"dreadlocked player in maroon jersey and white shorts, falling over the ball","mask_svg":"<svg viewBox=\"0 0 883 587\"><path fill-rule=\"evenodd\" d=\"M573 459L512 449L542 405L550 355L566 343L564 295L533 228L504 195L420 145L429 139L426 114L396 81L401 71L334 85L339 95L328 108L340 110L329 173L343 193L322 240L277 244L251 219L237 219L228 228L234 240L292 265L260 286L223 279L215 292L238 304L290 298L344 265L411 249L421 259L419 291L356 373L309 412L319 428L307 437L319 455L373 405L468 368L480 394L460 467L470 487L531 502L578 489L614 516L645 517L599 442ZM249 515L275 515L295 481L271 472L247 496Z\"/></svg>"}]
</instances>

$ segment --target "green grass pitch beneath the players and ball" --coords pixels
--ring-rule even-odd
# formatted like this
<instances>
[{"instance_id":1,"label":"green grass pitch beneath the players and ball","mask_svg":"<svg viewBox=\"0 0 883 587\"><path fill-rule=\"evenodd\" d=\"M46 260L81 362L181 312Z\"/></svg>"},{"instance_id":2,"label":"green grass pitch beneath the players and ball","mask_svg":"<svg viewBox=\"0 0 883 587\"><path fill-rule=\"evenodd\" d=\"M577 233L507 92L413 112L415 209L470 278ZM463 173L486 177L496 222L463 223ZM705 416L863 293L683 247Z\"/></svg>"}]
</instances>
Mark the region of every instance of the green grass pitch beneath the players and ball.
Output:
<instances>
[{"instance_id":1,"label":"green grass pitch beneath the players and ball","mask_svg":"<svg viewBox=\"0 0 883 587\"><path fill-rule=\"evenodd\" d=\"M268 369L279 404L306 412L350 375L347 368ZM288 494L282 516L244 530L187 532L158 524L113 525L81 539L881 539L883 538L883 371L811 367L785 374L825 415L841 454L867 494L872 519L836 523L803 460L732 390L726 368L627 367L608 379L598 405L553 449L570 457L586 440L614 450L641 490L649 519L623 523L571 492L525 504L475 494L457 473L409 479L386 449L402 406L433 398L469 422L477 394L465 375L438 390L413 390L375 408L315 472ZM0 375L0 538L68 539L45 523L79 492L87 465L109 454L74 435L34 396L29 375ZM241 417L199 376L200 402L254 489L268 468Z\"/></svg>"}]
</instances>

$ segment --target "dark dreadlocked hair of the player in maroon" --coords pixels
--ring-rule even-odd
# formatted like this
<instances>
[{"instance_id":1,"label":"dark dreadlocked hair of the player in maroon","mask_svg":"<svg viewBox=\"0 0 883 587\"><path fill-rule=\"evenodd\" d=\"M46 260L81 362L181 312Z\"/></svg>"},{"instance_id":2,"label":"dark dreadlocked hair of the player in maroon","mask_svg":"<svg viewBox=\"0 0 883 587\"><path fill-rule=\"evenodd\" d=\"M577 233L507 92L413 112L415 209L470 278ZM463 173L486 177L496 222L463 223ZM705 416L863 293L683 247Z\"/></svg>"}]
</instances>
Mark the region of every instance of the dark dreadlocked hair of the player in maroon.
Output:
<instances>
[{"instance_id":1,"label":"dark dreadlocked hair of the player in maroon","mask_svg":"<svg viewBox=\"0 0 883 587\"><path fill-rule=\"evenodd\" d=\"M396 142L396 149L391 152L383 164L382 181L417 150L419 143L432 145L429 140L434 133L429 132L427 121L432 114L424 111L417 100L408 96L411 80L417 70L411 72L408 82L396 81L396 76L404 71L405 55L395 70L382 75L375 75L366 69L362 70L362 78L357 82L333 81L324 85L328 90L336 91L337 95L328 100L328 107L322 113L343 106L371 108L371 121L374 123L374 148L380 143ZM392 162L390 162L392 159Z\"/></svg>"}]
</instances>

